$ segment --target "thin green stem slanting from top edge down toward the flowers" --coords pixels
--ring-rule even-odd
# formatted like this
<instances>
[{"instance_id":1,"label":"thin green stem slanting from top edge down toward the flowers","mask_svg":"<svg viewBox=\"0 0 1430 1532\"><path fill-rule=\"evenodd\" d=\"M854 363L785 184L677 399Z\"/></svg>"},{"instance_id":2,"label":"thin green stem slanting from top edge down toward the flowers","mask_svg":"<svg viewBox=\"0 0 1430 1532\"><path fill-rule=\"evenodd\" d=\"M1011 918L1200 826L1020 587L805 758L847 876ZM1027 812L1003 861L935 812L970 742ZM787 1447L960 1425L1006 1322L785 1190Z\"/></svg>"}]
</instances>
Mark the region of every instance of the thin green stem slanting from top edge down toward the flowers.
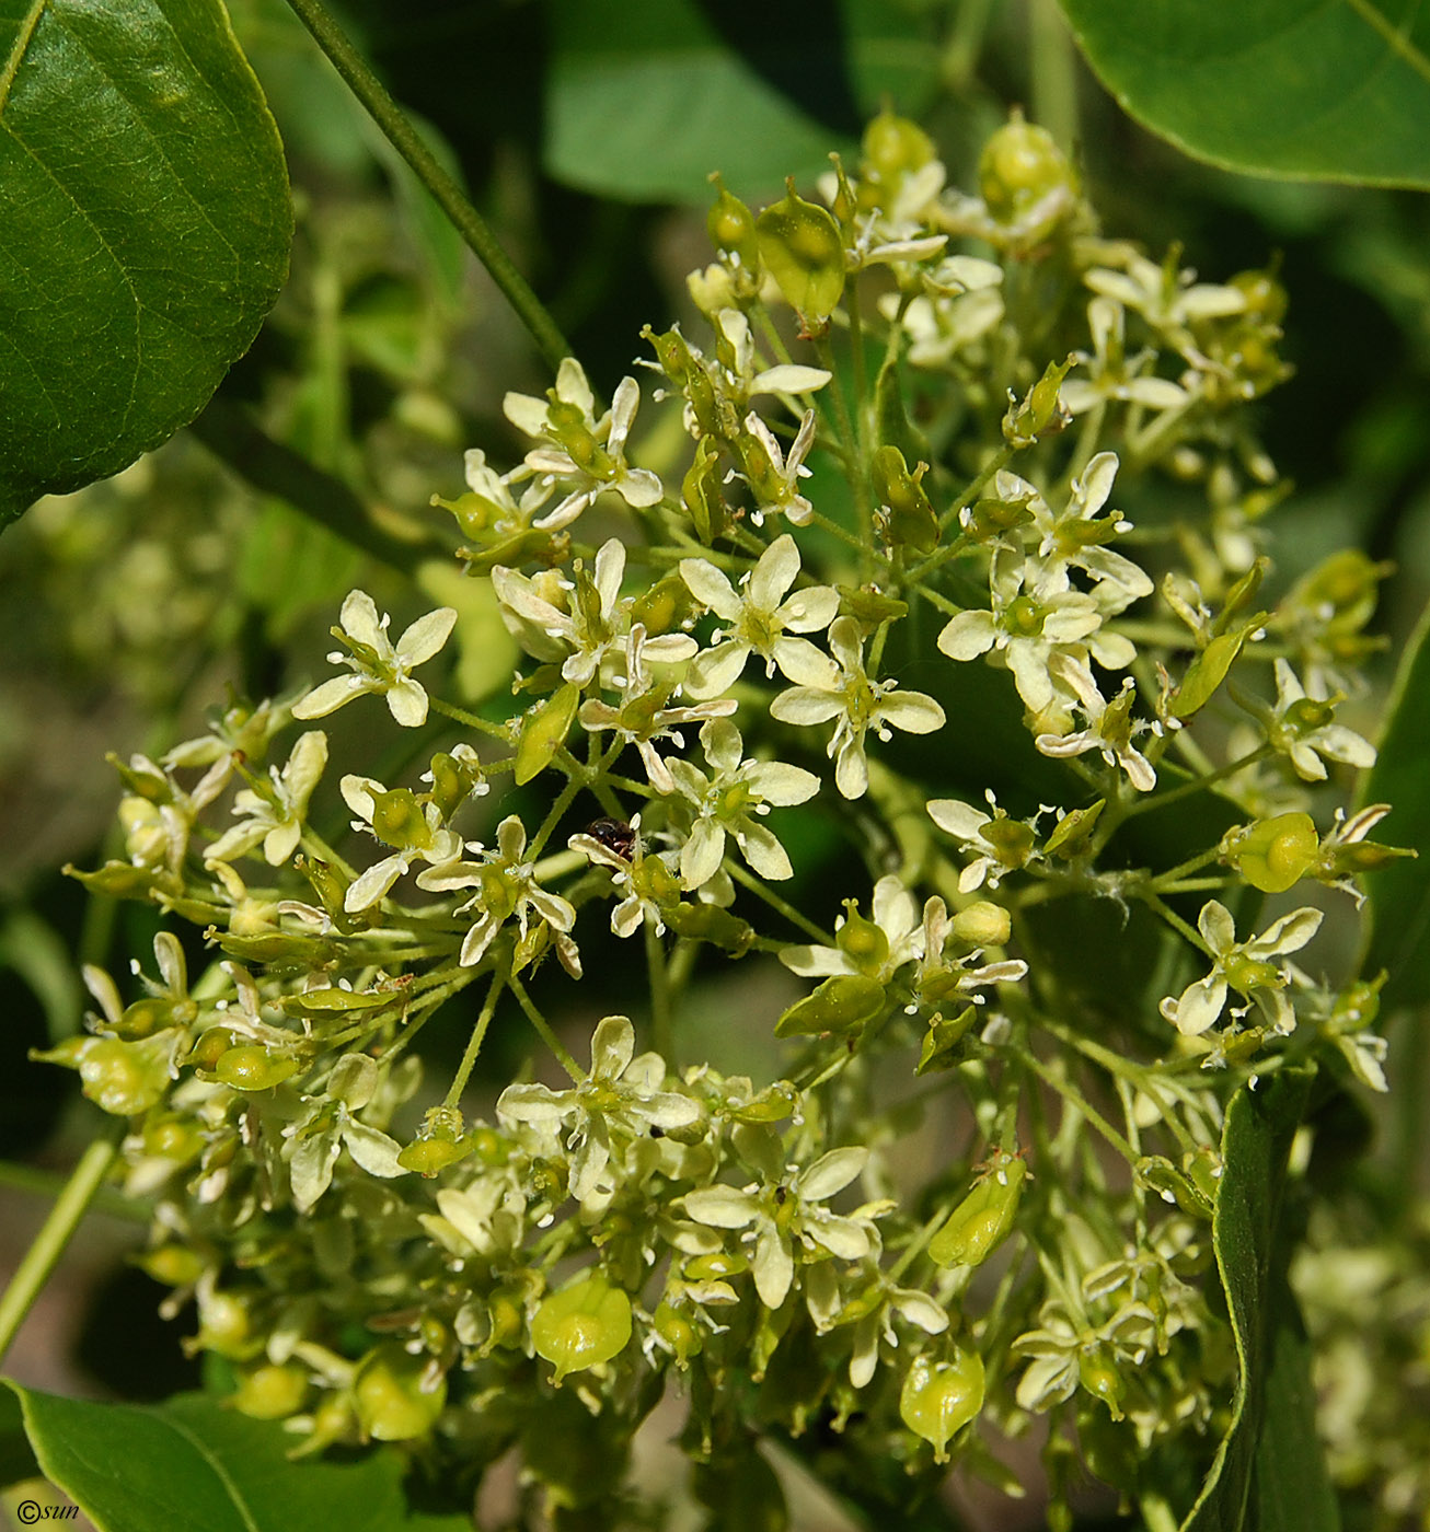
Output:
<instances>
[{"instance_id":1,"label":"thin green stem slanting from top edge down toward the flowers","mask_svg":"<svg viewBox=\"0 0 1430 1532\"><path fill-rule=\"evenodd\" d=\"M510 256L487 228L486 219L472 207L452 176L437 164L435 156L417 135L406 113L366 66L342 28L328 15L322 0L288 0L288 5L313 34L317 46L328 55L330 63L362 103L363 110L383 130L397 153L411 165L417 179L432 193L457 233L487 268L503 297L517 311L517 317L526 325L541 355L555 371L562 357L570 355L572 348L566 343L556 322L532 291L526 277L512 265Z\"/></svg>"}]
</instances>

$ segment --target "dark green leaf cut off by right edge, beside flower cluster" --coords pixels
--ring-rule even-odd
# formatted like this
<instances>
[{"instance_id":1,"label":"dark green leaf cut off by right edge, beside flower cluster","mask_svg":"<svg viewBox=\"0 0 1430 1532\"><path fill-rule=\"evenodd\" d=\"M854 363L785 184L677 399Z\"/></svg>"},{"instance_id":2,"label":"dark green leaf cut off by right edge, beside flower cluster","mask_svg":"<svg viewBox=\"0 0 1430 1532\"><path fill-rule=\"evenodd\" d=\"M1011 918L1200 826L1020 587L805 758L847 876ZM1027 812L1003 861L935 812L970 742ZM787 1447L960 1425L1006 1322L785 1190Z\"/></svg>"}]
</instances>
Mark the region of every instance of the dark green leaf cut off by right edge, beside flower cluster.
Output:
<instances>
[{"instance_id":1,"label":"dark green leaf cut off by right edge, beside flower cluster","mask_svg":"<svg viewBox=\"0 0 1430 1532\"><path fill-rule=\"evenodd\" d=\"M1430 610L1405 647L1387 711L1375 766L1363 780L1364 804L1389 803L1390 813L1375 838L1409 846L1405 856L1369 873L1366 892L1370 936L1361 973L1390 977L1381 990L1381 1008L1424 1005L1430 1000Z\"/></svg>"}]
</instances>

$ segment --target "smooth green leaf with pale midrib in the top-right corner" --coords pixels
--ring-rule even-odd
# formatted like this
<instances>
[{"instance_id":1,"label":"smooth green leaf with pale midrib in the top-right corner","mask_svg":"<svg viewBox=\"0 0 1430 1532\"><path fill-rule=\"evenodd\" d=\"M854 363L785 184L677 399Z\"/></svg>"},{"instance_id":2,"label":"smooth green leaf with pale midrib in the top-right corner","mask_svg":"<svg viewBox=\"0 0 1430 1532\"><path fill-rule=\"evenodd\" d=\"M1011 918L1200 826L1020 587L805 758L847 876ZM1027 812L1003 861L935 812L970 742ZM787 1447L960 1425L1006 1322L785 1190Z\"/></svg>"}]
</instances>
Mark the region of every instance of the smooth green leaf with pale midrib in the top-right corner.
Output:
<instances>
[{"instance_id":1,"label":"smooth green leaf with pale midrib in the top-right corner","mask_svg":"<svg viewBox=\"0 0 1430 1532\"><path fill-rule=\"evenodd\" d=\"M1430 187L1430 11L1404 0L1062 0L1102 83L1229 170Z\"/></svg>"}]
</instances>

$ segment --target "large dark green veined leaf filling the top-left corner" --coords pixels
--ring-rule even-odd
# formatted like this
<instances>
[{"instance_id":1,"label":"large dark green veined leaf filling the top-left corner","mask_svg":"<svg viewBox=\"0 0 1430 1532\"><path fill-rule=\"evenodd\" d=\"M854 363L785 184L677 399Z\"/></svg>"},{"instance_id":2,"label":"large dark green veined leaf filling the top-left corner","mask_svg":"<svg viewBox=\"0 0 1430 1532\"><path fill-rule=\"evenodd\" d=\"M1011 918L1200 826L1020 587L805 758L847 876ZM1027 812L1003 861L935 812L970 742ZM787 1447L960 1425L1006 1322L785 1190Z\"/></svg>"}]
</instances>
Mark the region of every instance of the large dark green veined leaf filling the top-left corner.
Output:
<instances>
[{"instance_id":1,"label":"large dark green veined leaf filling the top-left corner","mask_svg":"<svg viewBox=\"0 0 1430 1532\"><path fill-rule=\"evenodd\" d=\"M0 525L190 421L284 283L277 129L219 0L0 0Z\"/></svg>"}]
</instances>

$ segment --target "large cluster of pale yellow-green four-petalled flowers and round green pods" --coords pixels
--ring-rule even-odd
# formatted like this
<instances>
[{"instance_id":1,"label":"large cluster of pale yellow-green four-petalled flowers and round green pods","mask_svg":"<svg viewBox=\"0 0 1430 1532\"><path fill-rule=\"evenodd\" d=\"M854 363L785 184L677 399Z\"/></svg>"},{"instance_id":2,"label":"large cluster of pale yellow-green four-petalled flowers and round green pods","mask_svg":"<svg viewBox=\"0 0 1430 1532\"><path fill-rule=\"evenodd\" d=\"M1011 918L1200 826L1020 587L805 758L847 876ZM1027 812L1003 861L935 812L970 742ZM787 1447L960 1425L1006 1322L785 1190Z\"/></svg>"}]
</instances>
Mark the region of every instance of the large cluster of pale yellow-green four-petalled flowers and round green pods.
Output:
<instances>
[{"instance_id":1,"label":"large cluster of pale yellow-green four-petalled flowers and round green pods","mask_svg":"<svg viewBox=\"0 0 1430 1532\"><path fill-rule=\"evenodd\" d=\"M635 375L607 409L567 358L506 398L521 463L438 501L510 696L443 696L457 610L394 643L357 590L345 674L121 764L123 853L80 876L215 954L190 987L166 933L127 1005L92 970L49 1057L130 1118L147 1268L300 1452L412 1442L469 1485L520 1446L599 1520L671 1377L707 1466L820 1422L851 1486L996 1480L984 1428L1048 1416L1054 1497L1070 1432L1130 1491L1215 1451L1228 1100L1386 1083L1329 916L1251 908L1353 918L1396 855L1327 797L1375 760L1381 571L1266 552L1274 279L1105 239L1030 124L966 195L886 113L823 202L722 188L710 228L710 340L647 331L665 446ZM1203 507L1134 529L1157 466ZM334 784L310 729L265 769L374 697L405 752ZM700 1062L713 1010L765 1034L740 1072ZM523 1028L527 1071L484 1072ZM558 1388L610 1474L533 1442Z\"/></svg>"}]
</instances>

